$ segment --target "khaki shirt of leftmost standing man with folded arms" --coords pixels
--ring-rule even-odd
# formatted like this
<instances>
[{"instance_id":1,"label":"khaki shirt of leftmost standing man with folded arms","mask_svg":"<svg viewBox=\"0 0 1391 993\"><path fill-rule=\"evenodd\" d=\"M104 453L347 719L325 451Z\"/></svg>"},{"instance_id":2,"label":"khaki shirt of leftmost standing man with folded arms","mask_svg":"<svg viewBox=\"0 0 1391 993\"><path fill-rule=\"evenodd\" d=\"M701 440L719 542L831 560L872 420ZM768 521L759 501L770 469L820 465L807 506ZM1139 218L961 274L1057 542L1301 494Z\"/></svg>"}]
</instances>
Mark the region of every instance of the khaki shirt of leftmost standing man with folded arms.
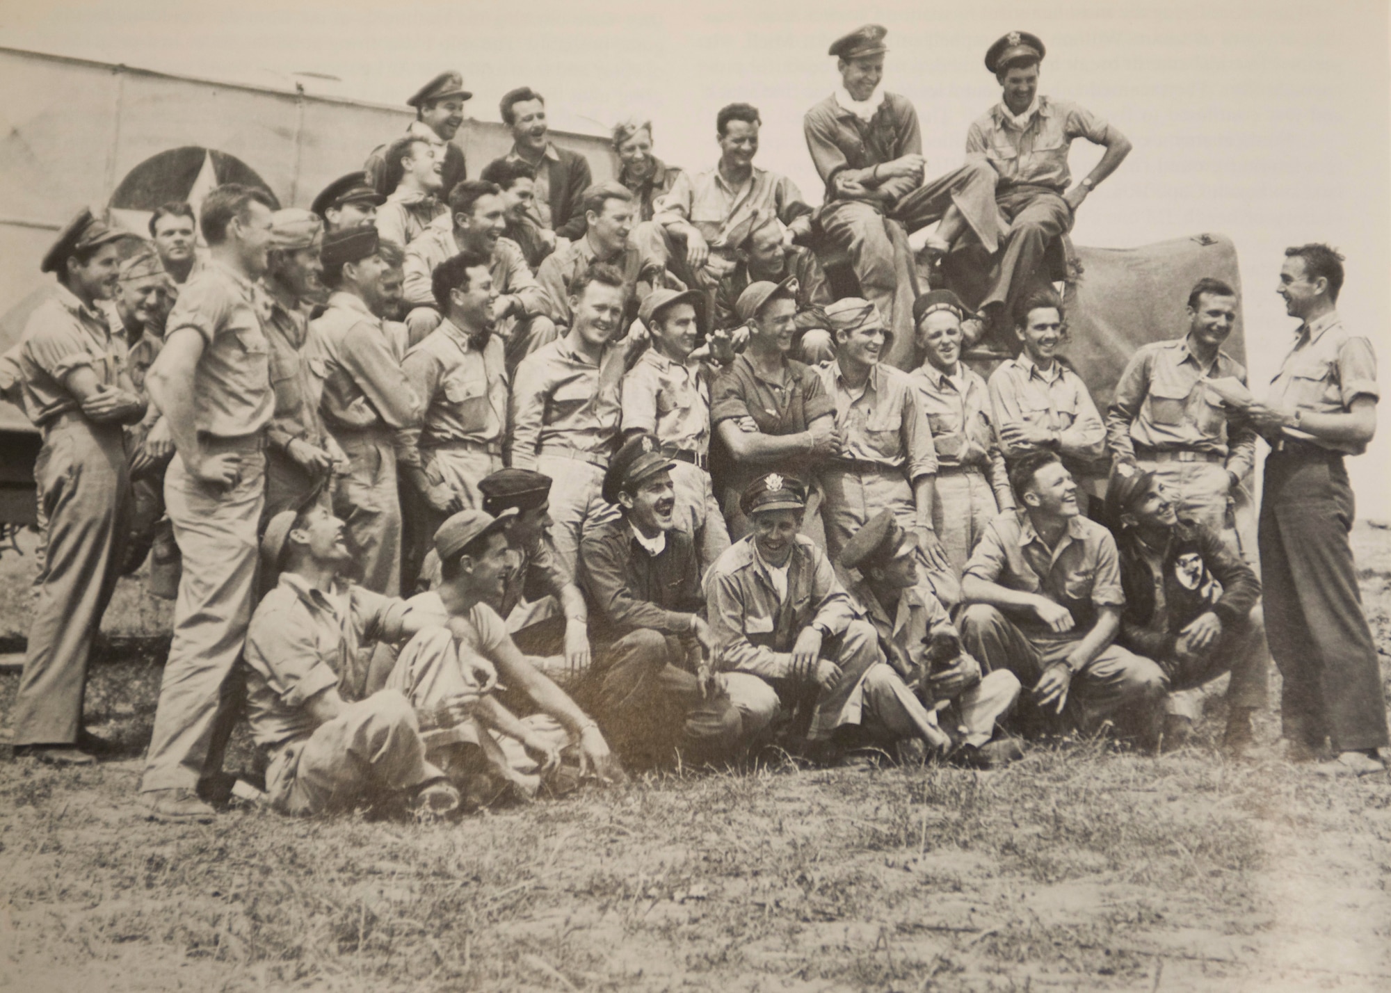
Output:
<instances>
[{"instance_id":1,"label":"khaki shirt of leftmost standing man with folded arms","mask_svg":"<svg viewBox=\"0 0 1391 993\"><path fill-rule=\"evenodd\" d=\"M67 377L86 366L99 382L118 387L125 369L125 335L113 332L100 310L88 307L67 286L58 286L29 316L19 346L24 410L38 427L58 414L79 410Z\"/></svg>"}]
</instances>

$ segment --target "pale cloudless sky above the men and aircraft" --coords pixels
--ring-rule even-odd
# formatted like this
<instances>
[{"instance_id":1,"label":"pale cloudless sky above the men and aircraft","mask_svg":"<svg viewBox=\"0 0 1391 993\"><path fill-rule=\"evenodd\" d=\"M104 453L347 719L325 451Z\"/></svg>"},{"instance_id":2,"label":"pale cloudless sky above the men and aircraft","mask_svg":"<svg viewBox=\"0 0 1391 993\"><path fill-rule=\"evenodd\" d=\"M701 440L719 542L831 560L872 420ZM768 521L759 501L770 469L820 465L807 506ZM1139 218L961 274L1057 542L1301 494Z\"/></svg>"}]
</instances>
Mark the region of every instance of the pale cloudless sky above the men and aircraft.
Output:
<instances>
[{"instance_id":1,"label":"pale cloudless sky above the men and aircraft","mask_svg":"<svg viewBox=\"0 0 1391 993\"><path fill-rule=\"evenodd\" d=\"M933 175L960 164L967 127L999 100L985 49L1007 31L1039 35L1040 92L1077 100L1135 145L1084 204L1074 241L1231 236L1257 395L1295 327L1274 295L1287 245L1346 253L1340 310L1391 353L1384 0L46 0L3 4L0 45L280 88L319 72L341 82L303 79L310 92L392 104L458 68L474 118L497 121L498 97L530 85L558 128L598 134L651 117L658 156L687 168L714 163L716 110L747 100L764 118L758 163L815 203L801 115L837 82L826 46L864 22L889 28L885 85L915 103ZM1097 153L1074 149L1084 175ZM1391 380L1384 360L1381 373ZM1378 471L1388 453L1391 402L1373 448L1349 463L1360 516L1391 519L1391 474Z\"/></svg>"}]
</instances>

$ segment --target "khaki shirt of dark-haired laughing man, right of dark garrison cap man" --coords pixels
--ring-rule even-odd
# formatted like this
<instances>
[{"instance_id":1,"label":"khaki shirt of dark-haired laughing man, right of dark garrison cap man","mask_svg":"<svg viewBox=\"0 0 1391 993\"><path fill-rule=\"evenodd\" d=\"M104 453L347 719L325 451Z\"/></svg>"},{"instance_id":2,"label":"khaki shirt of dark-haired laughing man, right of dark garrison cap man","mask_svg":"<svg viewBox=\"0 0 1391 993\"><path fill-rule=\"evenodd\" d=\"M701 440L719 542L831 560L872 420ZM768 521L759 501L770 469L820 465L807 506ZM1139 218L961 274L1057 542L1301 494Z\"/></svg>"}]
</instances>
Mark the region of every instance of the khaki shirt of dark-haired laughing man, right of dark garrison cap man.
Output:
<instances>
[{"instance_id":1,"label":"khaki shirt of dark-haired laughing man, right of dark garrison cap man","mask_svg":"<svg viewBox=\"0 0 1391 993\"><path fill-rule=\"evenodd\" d=\"M424 403L420 428L402 431L401 460L421 463L420 449L452 441L488 445L502 452L508 421L508 374L502 367L502 339L490 335L483 349L449 318L441 321L402 363L416 396Z\"/></svg>"}]
</instances>

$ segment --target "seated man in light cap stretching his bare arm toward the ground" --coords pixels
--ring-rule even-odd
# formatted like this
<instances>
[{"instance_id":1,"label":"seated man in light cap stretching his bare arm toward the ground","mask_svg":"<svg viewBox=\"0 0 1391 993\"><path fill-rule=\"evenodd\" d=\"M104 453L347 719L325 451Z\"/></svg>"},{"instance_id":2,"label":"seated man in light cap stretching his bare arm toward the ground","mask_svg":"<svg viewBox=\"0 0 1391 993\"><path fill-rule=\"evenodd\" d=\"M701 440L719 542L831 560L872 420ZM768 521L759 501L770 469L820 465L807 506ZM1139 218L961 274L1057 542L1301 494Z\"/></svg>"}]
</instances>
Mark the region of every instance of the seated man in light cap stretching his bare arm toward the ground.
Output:
<instances>
[{"instance_id":1,"label":"seated man in light cap stretching his bare arm toward the ground","mask_svg":"<svg viewBox=\"0 0 1391 993\"><path fill-rule=\"evenodd\" d=\"M473 708L474 722L460 725L438 741L447 770L465 780L488 773L526 794L542 783L554 789L562 752L574 755L581 773L622 780L623 769L611 755L598 725L527 662L488 605L501 597L513 563L505 523L505 517L469 509L440 526L435 552L441 584L412 597L406 616L419 617L421 627L449 624L449 630L427 630L413 638L389 672L383 665L391 665L389 658L378 654L369 690L385 684L417 708L448 704L462 688L481 693ZM498 683L530 698L541 713L517 720L491 693ZM492 732L501 736L494 737Z\"/></svg>"}]
</instances>

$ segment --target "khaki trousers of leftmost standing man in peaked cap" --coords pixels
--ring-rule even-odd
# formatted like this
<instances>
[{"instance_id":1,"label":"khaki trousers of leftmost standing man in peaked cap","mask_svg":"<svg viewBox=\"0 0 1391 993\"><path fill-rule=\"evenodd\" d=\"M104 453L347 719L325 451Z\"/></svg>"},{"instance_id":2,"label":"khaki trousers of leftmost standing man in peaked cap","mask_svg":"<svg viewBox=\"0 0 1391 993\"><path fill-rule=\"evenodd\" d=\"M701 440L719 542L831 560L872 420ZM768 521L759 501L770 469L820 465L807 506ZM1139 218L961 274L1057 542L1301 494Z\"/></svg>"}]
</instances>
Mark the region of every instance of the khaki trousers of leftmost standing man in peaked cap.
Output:
<instances>
[{"instance_id":1,"label":"khaki trousers of leftmost standing man in peaked cap","mask_svg":"<svg viewBox=\"0 0 1391 993\"><path fill-rule=\"evenodd\" d=\"M43 428L33 476L46 554L10 720L15 744L74 744L92 638L129 540L131 481L121 426L60 414Z\"/></svg>"}]
</instances>

